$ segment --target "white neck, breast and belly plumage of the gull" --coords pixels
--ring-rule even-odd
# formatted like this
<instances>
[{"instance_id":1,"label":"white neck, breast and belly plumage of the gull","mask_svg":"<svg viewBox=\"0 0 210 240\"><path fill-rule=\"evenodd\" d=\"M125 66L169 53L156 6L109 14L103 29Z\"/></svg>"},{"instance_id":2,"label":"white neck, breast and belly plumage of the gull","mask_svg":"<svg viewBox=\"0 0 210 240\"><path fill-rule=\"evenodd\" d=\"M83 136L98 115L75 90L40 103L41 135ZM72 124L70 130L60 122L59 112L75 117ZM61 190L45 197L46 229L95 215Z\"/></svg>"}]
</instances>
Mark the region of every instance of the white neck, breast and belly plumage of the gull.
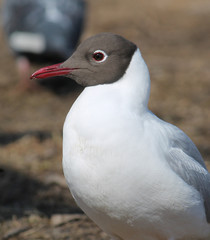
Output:
<instances>
[{"instance_id":1,"label":"white neck, breast and belly plumage of the gull","mask_svg":"<svg viewBox=\"0 0 210 240\"><path fill-rule=\"evenodd\" d=\"M67 115L67 183L83 211L124 240L182 236L189 228L197 234L205 219L200 195L169 169L156 144L159 123L146 106L149 79L141 86L136 79L139 62L145 68L137 51L123 79L86 88Z\"/></svg>"}]
</instances>

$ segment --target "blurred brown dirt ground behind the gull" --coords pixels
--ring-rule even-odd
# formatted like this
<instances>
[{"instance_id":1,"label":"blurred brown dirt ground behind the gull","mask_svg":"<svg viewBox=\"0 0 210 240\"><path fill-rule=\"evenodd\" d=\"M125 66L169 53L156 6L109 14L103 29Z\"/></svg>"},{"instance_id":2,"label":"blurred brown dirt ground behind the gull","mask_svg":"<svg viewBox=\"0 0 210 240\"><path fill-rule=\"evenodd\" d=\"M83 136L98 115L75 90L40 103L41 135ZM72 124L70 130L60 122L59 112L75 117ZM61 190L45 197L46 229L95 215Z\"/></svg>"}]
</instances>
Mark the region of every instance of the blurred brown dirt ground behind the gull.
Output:
<instances>
[{"instance_id":1,"label":"blurred brown dirt ground behind the gull","mask_svg":"<svg viewBox=\"0 0 210 240\"><path fill-rule=\"evenodd\" d=\"M81 40L99 32L140 47L150 109L184 130L210 166L210 1L89 0ZM81 88L20 91L2 31L0 49L0 239L109 239L76 206L62 172L62 126Z\"/></svg>"}]
</instances>

